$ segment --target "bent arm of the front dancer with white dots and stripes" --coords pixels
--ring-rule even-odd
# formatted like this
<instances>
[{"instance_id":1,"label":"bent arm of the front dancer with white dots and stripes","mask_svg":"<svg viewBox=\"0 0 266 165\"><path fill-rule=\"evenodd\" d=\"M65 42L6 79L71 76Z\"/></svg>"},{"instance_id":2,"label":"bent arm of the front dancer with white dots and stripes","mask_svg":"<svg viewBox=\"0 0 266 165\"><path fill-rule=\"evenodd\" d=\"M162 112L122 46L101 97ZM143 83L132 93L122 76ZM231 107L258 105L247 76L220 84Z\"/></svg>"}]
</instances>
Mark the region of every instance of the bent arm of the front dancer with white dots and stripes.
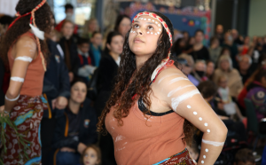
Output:
<instances>
[{"instance_id":1,"label":"bent arm of the front dancer with white dots and stripes","mask_svg":"<svg viewBox=\"0 0 266 165\"><path fill-rule=\"evenodd\" d=\"M201 97L200 91L174 68L163 70L153 85L169 108L204 132L198 164L214 164L222 151L227 128Z\"/></svg>"}]
</instances>

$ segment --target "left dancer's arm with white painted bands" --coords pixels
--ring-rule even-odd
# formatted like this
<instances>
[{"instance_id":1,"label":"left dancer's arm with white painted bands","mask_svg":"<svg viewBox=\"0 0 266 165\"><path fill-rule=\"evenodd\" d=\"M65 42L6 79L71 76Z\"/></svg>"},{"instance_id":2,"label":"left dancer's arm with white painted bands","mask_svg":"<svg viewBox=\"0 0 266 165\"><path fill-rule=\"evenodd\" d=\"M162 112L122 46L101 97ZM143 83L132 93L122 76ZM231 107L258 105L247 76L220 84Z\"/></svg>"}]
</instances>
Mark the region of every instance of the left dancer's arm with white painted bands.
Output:
<instances>
[{"instance_id":1,"label":"left dancer's arm with white painted bands","mask_svg":"<svg viewBox=\"0 0 266 165\"><path fill-rule=\"evenodd\" d=\"M13 52L15 60L12 67L9 88L6 91L4 100L4 110L6 112L11 112L12 107L16 105L18 98L20 98L20 90L24 83L27 67L37 55L37 45L28 36L20 37L20 40L13 47L15 48Z\"/></svg>"}]
</instances>

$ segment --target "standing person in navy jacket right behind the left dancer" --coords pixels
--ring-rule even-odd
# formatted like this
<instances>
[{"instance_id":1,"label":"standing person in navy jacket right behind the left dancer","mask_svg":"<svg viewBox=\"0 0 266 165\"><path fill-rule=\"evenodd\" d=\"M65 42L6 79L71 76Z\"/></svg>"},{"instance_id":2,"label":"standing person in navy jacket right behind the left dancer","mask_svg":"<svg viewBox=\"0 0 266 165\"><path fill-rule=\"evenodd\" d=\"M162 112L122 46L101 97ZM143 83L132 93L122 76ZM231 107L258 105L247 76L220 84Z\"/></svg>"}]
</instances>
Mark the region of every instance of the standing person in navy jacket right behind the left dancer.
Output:
<instances>
[{"instance_id":1,"label":"standing person in navy jacket right behind the left dancer","mask_svg":"<svg viewBox=\"0 0 266 165\"><path fill-rule=\"evenodd\" d=\"M51 20L54 21L54 20ZM51 150L56 117L64 114L67 99L70 96L68 70L59 51L59 43L51 40L51 34L45 34L50 51L50 59L43 79L43 96L48 101L48 110L43 111L41 121L42 163L50 164L47 160Z\"/></svg>"}]
</instances>

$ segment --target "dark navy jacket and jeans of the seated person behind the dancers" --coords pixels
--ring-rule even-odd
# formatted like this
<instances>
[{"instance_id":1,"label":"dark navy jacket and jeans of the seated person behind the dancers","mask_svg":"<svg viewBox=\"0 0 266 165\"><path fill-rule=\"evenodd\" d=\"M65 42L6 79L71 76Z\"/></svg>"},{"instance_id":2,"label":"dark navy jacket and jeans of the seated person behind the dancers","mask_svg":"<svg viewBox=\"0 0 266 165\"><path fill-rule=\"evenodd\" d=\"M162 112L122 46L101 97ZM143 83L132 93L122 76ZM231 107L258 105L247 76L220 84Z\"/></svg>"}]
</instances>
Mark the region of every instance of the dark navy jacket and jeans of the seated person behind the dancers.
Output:
<instances>
[{"instance_id":1,"label":"dark navy jacket and jeans of the seated person behind the dancers","mask_svg":"<svg viewBox=\"0 0 266 165\"><path fill-rule=\"evenodd\" d=\"M95 110L90 106L90 99L86 98L80 106L78 114L66 108L65 115L59 117L53 138L52 148L56 150L54 158L59 164L79 161L82 151L79 145L95 144L98 140L96 124L98 122ZM78 123L78 124L76 124ZM75 133L74 133L75 132ZM64 148L71 148L73 152L64 152ZM66 155L67 158L66 158Z\"/></svg>"}]
</instances>

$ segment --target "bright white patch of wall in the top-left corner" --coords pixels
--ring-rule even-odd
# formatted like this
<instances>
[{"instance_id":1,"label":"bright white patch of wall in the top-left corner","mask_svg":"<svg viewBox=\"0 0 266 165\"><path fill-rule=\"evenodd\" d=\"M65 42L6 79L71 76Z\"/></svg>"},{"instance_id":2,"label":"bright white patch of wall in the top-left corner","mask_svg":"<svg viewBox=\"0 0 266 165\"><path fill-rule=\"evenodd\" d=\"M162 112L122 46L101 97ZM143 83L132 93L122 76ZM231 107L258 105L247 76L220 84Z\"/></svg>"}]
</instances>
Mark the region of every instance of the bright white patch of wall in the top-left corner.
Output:
<instances>
[{"instance_id":1,"label":"bright white patch of wall in the top-left corner","mask_svg":"<svg viewBox=\"0 0 266 165\"><path fill-rule=\"evenodd\" d=\"M19 0L0 0L0 13L15 16L15 8Z\"/></svg>"}]
</instances>

